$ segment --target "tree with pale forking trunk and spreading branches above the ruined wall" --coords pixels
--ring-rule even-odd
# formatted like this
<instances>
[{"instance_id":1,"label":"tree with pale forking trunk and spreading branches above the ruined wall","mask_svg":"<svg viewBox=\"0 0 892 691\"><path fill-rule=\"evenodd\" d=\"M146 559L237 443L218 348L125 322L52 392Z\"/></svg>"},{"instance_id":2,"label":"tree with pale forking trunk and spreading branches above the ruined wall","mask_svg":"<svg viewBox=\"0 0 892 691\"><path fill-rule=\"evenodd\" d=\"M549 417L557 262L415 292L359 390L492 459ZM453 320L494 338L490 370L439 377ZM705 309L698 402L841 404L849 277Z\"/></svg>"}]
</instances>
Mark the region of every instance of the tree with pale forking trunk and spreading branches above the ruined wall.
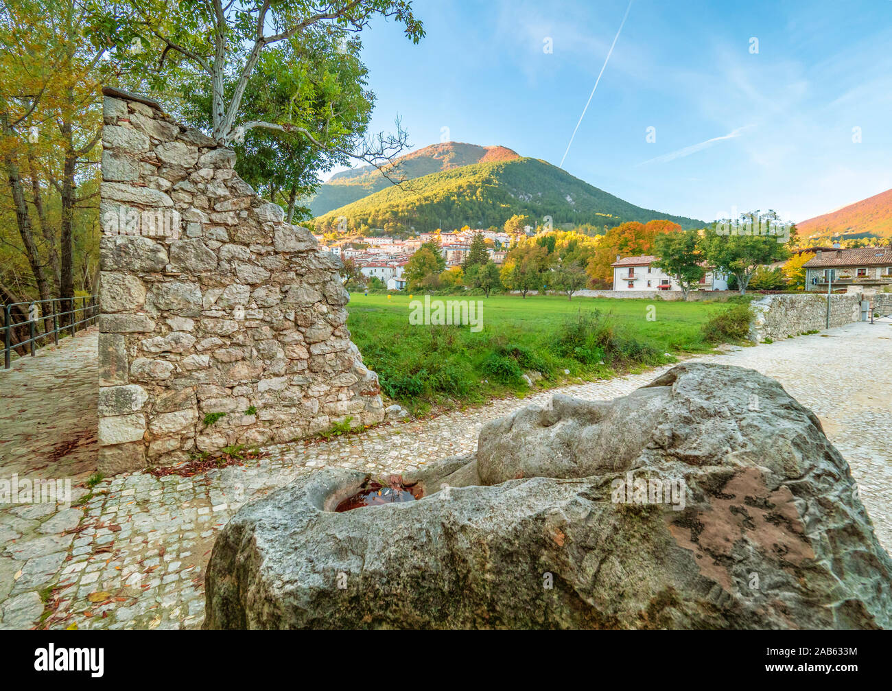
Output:
<instances>
[{"instance_id":1,"label":"tree with pale forking trunk and spreading branches above the ruined wall","mask_svg":"<svg viewBox=\"0 0 892 691\"><path fill-rule=\"evenodd\" d=\"M425 35L410 0L274 0L233 3L226 0L97 0L88 30L97 45L111 45L109 58L164 94L200 88L211 94L211 133L231 144L252 128L267 128L320 143L307 128L245 117L248 81L261 55L291 39L304 44L310 35L344 45L370 21L392 18L417 43ZM134 45L139 50L134 50ZM334 118L333 118L334 120ZM382 138L357 158L377 164L391 160L405 144L404 133ZM351 152L346 152L351 153Z\"/></svg>"}]
</instances>

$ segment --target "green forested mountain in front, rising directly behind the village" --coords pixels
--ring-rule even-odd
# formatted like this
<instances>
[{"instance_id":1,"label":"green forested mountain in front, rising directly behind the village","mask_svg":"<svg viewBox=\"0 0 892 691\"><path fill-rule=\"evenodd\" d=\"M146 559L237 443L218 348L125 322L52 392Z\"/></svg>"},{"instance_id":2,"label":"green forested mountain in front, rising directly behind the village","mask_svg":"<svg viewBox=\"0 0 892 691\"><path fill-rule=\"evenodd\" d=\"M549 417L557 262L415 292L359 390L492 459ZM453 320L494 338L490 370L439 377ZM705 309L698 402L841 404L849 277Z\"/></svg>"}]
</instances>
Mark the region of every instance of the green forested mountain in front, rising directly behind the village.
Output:
<instances>
[{"instance_id":1,"label":"green forested mountain in front, rising directly behind the village","mask_svg":"<svg viewBox=\"0 0 892 691\"><path fill-rule=\"evenodd\" d=\"M346 217L348 229L368 233L417 233L472 227L501 227L515 214L533 222L550 216L563 223L613 227L624 221L646 223L666 218L683 228L703 227L696 218L642 209L599 190L544 160L516 158L481 162L409 180L329 211L316 219L319 232L338 229ZM531 224L532 225L532 224Z\"/></svg>"}]
</instances>

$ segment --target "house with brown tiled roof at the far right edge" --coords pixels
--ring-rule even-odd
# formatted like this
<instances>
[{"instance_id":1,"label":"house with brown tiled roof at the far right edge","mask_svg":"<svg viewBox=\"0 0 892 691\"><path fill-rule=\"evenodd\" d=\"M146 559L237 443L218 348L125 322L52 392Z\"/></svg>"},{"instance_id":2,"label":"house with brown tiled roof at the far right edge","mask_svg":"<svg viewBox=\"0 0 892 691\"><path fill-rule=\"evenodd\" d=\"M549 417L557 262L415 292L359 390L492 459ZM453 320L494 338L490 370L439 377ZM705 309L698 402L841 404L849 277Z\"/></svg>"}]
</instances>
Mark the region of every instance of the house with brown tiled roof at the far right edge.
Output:
<instances>
[{"instance_id":1,"label":"house with brown tiled roof at the far right edge","mask_svg":"<svg viewBox=\"0 0 892 691\"><path fill-rule=\"evenodd\" d=\"M892 247L859 247L853 250L818 250L805 267L805 290L833 288L871 295L892 286Z\"/></svg>"}]
</instances>

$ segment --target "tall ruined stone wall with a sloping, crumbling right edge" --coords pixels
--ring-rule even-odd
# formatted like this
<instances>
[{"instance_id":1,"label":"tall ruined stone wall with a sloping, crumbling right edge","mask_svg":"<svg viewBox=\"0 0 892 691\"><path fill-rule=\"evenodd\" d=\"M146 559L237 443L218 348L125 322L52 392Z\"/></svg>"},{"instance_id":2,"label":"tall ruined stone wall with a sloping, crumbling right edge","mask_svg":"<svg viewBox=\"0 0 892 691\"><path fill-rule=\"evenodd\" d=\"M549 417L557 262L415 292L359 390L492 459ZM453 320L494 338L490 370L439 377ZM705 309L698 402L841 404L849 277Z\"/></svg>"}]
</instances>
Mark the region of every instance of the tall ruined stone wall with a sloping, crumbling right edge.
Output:
<instances>
[{"instance_id":1,"label":"tall ruined stone wall with a sloping, crumbling right edge","mask_svg":"<svg viewBox=\"0 0 892 691\"><path fill-rule=\"evenodd\" d=\"M104 95L100 470L381 422L339 260L235 174L235 152Z\"/></svg>"}]
</instances>

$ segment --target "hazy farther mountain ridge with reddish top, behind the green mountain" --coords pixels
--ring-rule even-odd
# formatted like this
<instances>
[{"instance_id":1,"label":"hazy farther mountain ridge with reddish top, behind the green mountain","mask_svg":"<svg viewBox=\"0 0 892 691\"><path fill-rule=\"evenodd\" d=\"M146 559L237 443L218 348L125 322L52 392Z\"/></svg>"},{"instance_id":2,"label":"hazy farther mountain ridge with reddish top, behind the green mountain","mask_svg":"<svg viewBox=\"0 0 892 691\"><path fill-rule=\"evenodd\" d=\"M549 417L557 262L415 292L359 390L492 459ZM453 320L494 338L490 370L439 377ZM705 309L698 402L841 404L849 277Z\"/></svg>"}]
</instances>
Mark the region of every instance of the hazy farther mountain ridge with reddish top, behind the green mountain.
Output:
<instances>
[{"instance_id":1,"label":"hazy farther mountain ridge with reddish top, behind the green mountain","mask_svg":"<svg viewBox=\"0 0 892 691\"><path fill-rule=\"evenodd\" d=\"M393 161L388 176L397 180L411 180L474 163L491 163L516 158L520 158L517 153L504 146L443 142L401 156ZM307 206L310 207L313 216L322 216L390 185L392 182L374 166L344 170L319 187L318 192L310 197Z\"/></svg>"}]
</instances>

